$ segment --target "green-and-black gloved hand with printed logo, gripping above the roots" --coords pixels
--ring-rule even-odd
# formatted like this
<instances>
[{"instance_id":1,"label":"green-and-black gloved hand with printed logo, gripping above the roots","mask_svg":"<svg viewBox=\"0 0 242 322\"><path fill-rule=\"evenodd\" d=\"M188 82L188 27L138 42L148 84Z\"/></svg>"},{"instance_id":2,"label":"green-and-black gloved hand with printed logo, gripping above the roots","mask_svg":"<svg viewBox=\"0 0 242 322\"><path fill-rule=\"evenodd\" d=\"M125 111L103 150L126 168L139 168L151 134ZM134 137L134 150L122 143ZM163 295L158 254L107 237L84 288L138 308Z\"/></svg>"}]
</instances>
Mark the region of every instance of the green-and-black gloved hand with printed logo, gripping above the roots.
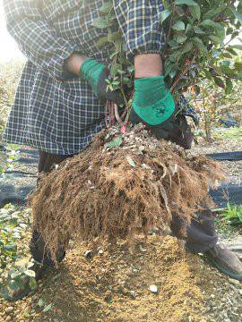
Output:
<instances>
[{"instance_id":1,"label":"green-and-black gloved hand with printed logo, gripping above the roots","mask_svg":"<svg viewBox=\"0 0 242 322\"><path fill-rule=\"evenodd\" d=\"M133 124L143 123L158 139L168 139L177 108L163 76L134 80Z\"/></svg>"}]
</instances>

